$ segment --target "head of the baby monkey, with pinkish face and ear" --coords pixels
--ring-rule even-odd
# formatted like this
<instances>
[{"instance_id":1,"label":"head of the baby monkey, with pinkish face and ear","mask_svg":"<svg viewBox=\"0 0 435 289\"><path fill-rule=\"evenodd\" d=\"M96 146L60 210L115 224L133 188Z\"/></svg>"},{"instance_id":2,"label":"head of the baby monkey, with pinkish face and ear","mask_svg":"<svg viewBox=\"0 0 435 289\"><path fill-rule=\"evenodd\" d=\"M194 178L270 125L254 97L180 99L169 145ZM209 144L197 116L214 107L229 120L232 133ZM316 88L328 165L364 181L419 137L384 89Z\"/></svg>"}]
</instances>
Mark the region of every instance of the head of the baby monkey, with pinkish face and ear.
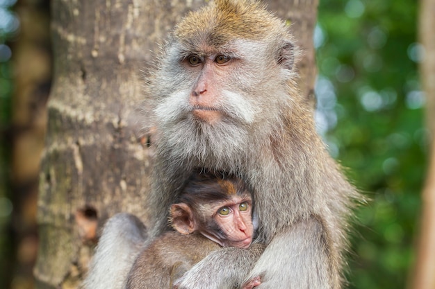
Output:
<instances>
[{"instance_id":1,"label":"head of the baby monkey, with pinkish face and ear","mask_svg":"<svg viewBox=\"0 0 435 289\"><path fill-rule=\"evenodd\" d=\"M181 234L198 231L224 247L252 242L252 196L236 176L197 170L170 209L172 227Z\"/></svg>"}]
</instances>

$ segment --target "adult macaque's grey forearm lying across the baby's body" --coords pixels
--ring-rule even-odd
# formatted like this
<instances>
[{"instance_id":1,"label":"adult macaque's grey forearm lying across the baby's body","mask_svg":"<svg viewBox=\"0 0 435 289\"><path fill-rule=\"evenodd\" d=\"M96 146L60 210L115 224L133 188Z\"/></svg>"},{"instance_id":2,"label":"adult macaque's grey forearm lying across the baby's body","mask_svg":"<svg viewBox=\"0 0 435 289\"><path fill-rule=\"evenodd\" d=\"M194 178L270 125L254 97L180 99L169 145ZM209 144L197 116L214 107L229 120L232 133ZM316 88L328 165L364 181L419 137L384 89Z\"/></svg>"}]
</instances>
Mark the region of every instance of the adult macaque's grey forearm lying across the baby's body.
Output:
<instances>
[{"instance_id":1,"label":"adult macaque's grey forearm lying across the baby's body","mask_svg":"<svg viewBox=\"0 0 435 289\"><path fill-rule=\"evenodd\" d=\"M253 243L249 249L225 247L212 252L177 280L174 288L240 288L264 248L261 243Z\"/></svg>"}]
</instances>

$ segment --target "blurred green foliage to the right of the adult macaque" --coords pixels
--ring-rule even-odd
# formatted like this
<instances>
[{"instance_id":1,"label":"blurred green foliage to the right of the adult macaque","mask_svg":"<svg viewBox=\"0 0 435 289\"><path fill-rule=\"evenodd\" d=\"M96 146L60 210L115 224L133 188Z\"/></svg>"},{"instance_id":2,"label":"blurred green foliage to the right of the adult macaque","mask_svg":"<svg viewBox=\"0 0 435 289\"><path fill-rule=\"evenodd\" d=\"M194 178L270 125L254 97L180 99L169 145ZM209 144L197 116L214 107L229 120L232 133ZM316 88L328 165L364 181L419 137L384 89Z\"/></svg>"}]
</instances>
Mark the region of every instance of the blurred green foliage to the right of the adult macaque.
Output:
<instances>
[{"instance_id":1,"label":"blurred green foliage to the right of the adult macaque","mask_svg":"<svg viewBox=\"0 0 435 289\"><path fill-rule=\"evenodd\" d=\"M416 23L413 0L320 1L320 131L369 199L352 238L349 288L405 288L413 262L427 141Z\"/></svg>"}]
</instances>

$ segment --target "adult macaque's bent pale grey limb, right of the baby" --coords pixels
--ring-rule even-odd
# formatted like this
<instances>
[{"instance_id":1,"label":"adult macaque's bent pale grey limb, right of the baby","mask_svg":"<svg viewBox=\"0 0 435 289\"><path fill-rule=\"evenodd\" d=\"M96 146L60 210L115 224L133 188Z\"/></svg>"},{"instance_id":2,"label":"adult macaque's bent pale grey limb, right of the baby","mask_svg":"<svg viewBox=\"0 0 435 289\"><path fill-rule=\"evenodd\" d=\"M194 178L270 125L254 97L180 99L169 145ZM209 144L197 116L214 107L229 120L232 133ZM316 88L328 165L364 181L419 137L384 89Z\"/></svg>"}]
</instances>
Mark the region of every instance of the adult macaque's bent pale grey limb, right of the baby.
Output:
<instances>
[{"instance_id":1,"label":"adult macaque's bent pale grey limb, right of the baby","mask_svg":"<svg viewBox=\"0 0 435 289\"><path fill-rule=\"evenodd\" d=\"M330 241L329 241L330 243ZM245 282L261 277L258 289L338 289L337 260L316 218L297 222L274 236Z\"/></svg>"}]
</instances>

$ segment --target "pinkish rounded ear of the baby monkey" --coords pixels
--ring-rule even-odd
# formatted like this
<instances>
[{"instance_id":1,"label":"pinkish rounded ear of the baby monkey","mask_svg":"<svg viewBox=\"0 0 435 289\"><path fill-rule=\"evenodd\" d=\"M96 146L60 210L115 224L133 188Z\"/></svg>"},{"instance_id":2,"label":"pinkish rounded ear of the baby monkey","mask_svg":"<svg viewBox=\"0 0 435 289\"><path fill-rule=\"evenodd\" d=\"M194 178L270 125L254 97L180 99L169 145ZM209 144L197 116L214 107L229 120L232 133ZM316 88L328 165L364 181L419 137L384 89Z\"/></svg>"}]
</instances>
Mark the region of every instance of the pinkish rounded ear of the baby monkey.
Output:
<instances>
[{"instance_id":1,"label":"pinkish rounded ear of the baby monkey","mask_svg":"<svg viewBox=\"0 0 435 289\"><path fill-rule=\"evenodd\" d=\"M170 221L172 222L172 227L183 235L188 235L196 229L193 212L188 204L185 203L172 204Z\"/></svg>"}]
</instances>

